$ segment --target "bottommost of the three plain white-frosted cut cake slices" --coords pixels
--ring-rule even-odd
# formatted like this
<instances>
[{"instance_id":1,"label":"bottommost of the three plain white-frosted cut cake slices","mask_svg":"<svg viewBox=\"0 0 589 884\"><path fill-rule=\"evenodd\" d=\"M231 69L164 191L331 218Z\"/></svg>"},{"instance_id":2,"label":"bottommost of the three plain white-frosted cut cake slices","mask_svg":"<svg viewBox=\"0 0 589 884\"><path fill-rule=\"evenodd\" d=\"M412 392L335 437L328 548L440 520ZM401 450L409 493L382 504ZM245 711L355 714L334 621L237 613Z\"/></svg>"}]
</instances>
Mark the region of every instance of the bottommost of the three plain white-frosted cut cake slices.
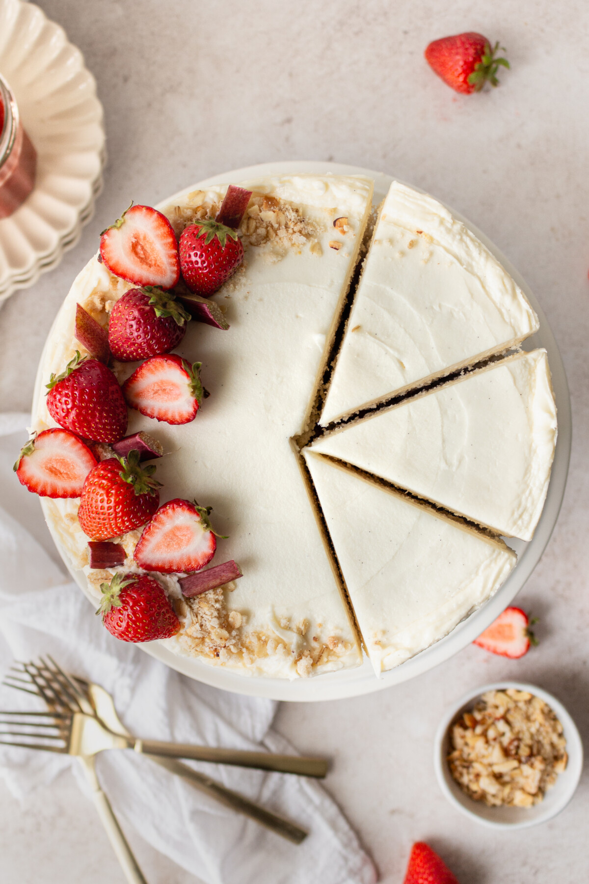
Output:
<instances>
[{"instance_id":1,"label":"bottommost of the three plain white-frosted cut cake slices","mask_svg":"<svg viewBox=\"0 0 589 884\"><path fill-rule=\"evenodd\" d=\"M515 567L502 540L308 449L305 457L376 674L448 635Z\"/></svg>"}]
</instances>

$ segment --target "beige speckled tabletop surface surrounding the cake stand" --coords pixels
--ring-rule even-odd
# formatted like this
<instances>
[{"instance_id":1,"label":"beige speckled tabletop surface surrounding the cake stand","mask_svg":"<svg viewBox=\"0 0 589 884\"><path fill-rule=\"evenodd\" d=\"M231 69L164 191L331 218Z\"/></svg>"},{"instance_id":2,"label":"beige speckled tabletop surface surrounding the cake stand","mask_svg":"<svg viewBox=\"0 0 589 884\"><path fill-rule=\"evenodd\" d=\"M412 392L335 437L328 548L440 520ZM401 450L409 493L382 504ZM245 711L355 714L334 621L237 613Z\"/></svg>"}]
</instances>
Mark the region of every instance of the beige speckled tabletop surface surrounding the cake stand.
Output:
<instances>
[{"instance_id":1,"label":"beige speckled tabletop surface surrounding the cake stand","mask_svg":"<svg viewBox=\"0 0 589 884\"><path fill-rule=\"evenodd\" d=\"M518 597L541 618L540 648L519 662L467 648L433 672L370 697L283 705L277 723L301 750L336 759L328 789L386 884L403 880L410 844L418 839L440 850L461 884L585 880L586 776L559 818L523 834L493 834L446 804L431 755L445 705L471 686L508 676L555 692L589 738L589 5L40 5L65 27L98 81L109 164L94 220L77 247L0 311L0 410L29 407L49 325L102 228L131 198L156 202L216 171L316 158L398 175L471 218L532 286L563 352L574 422L563 511ZM427 42L463 30L507 47L512 70L502 72L500 88L456 95L427 68ZM23 499L25 506L30 503ZM133 846L150 884L198 880L137 838ZM123 881L94 808L71 778L22 807L2 787L0 879Z\"/></svg>"}]
</instances>

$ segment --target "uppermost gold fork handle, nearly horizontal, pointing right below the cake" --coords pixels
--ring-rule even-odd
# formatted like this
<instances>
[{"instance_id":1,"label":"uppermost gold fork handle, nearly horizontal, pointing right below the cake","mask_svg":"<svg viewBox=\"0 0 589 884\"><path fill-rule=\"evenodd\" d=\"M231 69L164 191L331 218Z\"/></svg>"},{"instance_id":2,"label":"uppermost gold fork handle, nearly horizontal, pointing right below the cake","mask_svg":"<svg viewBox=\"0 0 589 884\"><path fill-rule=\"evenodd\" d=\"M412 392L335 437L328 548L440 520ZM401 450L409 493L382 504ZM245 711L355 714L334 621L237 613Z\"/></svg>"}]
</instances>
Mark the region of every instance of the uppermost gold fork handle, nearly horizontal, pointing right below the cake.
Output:
<instances>
[{"instance_id":1,"label":"uppermost gold fork handle, nearly horizontal, pointing right below the cake","mask_svg":"<svg viewBox=\"0 0 589 884\"><path fill-rule=\"evenodd\" d=\"M328 772L328 762L324 758L306 758L303 755L275 755L272 752L195 746L193 743L160 743L158 740L131 739L129 746L136 752L161 755L163 758L192 758L193 761L213 761L221 765L256 767L258 770L298 773L300 776L321 778Z\"/></svg>"}]
</instances>

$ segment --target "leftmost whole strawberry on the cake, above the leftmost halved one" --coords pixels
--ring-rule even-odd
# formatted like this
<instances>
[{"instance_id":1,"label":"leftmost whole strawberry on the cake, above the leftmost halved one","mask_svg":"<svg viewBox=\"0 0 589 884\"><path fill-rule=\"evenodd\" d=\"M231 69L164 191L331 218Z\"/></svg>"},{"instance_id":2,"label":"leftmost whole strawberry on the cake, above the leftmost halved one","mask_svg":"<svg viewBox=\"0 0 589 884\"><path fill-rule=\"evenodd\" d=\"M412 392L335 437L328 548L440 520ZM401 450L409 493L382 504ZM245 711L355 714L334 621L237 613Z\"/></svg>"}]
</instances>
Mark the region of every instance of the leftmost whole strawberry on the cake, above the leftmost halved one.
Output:
<instances>
[{"instance_id":1,"label":"leftmost whole strawberry on the cake, above the leftmost halved one","mask_svg":"<svg viewBox=\"0 0 589 884\"><path fill-rule=\"evenodd\" d=\"M49 378L49 415L66 430L93 442L117 442L127 429L127 407L117 378L79 350L61 375Z\"/></svg>"}]
</instances>

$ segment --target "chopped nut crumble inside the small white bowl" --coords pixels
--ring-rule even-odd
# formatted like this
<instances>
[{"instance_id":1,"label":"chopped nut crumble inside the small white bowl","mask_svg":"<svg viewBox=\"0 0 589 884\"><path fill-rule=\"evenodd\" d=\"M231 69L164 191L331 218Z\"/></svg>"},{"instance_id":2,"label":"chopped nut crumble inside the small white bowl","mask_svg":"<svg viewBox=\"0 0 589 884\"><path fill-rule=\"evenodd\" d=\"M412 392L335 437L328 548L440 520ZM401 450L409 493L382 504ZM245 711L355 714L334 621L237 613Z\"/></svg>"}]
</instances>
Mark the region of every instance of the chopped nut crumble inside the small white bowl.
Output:
<instances>
[{"instance_id":1,"label":"chopped nut crumble inside the small white bowl","mask_svg":"<svg viewBox=\"0 0 589 884\"><path fill-rule=\"evenodd\" d=\"M563 725L524 690L492 690L451 731L452 776L475 801L532 807L567 766Z\"/></svg>"}]
</instances>

